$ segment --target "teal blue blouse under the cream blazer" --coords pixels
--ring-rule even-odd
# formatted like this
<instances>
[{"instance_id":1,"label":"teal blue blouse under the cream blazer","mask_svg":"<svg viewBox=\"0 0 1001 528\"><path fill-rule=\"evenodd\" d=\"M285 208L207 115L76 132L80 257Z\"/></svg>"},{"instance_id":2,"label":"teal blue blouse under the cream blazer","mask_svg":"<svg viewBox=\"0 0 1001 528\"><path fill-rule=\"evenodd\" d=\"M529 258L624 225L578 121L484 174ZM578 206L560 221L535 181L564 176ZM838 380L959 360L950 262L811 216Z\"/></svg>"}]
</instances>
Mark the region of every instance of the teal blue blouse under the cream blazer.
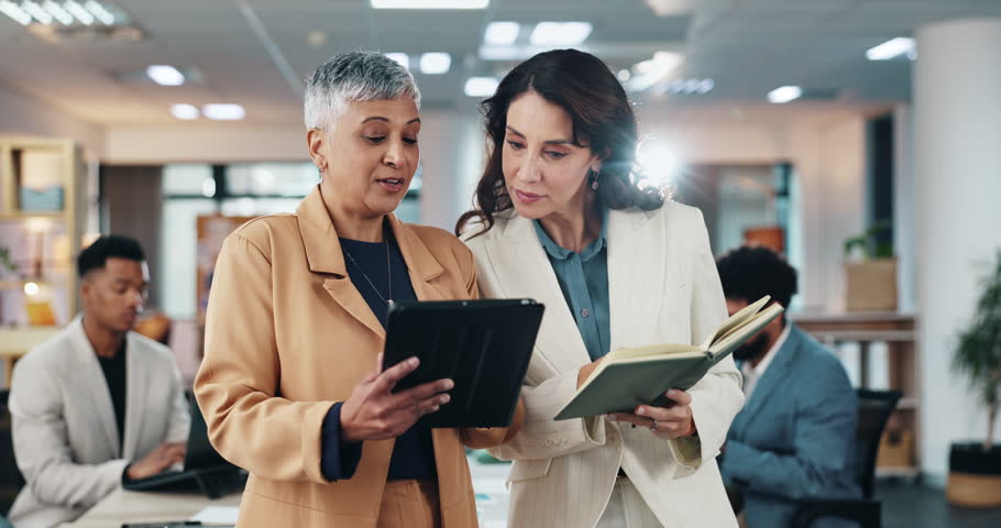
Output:
<instances>
[{"instance_id":1,"label":"teal blue blouse under the cream blazer","mask_svg":"<svg viewBox=\"0 0 1001 528\"><path fill-rule=\"evenodd\" d=\"M542 224L535 222L536 233L552 271L557 274L566 306L578 323L587 354L592 360L608 353L612 337L608 312L608 251L606 232L608 210L602 211L602 233L580 253L560 246L549 238Z\"/></svg>"}]
</instances>

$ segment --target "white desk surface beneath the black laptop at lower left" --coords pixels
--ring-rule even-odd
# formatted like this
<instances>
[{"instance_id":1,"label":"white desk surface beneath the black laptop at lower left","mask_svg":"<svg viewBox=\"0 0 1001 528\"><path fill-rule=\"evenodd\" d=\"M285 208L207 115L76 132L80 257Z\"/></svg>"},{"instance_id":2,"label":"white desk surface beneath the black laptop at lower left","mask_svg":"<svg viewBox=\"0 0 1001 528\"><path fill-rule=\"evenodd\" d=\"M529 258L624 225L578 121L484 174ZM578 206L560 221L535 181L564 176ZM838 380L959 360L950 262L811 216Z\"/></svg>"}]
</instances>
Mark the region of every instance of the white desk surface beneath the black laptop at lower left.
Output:
<instances>
[{"instance_id":1,"label":"white desk surface beneath the black laptop at lower left","mask_svg":"<svg viewBox=\"0 0 1001 528\"><path fill-rule=\"evenodd\" d=\"M200 494L118 490L62 528L119 528L122 522L185 520L209 506L240 506L240 493L212 501Z\"/></svg>"}]
</instances>

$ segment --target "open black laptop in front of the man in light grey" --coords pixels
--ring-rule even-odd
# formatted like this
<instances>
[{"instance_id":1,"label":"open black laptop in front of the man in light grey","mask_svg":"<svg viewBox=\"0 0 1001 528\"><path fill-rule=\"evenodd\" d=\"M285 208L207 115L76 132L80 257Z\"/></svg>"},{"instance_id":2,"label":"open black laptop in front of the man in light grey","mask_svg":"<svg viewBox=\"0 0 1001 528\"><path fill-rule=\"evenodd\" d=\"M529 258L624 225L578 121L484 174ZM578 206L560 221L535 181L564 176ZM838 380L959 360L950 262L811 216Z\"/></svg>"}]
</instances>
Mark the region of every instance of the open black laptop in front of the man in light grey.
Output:
<instances>
[{"instance_id":1,"label":"open black laptop in front of the man in light grey","mask_svg":"<svg viewBox=\"0 0 1001 528\"><path fill-rule=\"evenodd\" d=\"M191 429L184 468L170 469L145 479L127 481L135 492L196 492L209 498L243 490L246 472L226 461L209 442L208 427L195 398L189 402Z\"/></svg>"}]
</instances>

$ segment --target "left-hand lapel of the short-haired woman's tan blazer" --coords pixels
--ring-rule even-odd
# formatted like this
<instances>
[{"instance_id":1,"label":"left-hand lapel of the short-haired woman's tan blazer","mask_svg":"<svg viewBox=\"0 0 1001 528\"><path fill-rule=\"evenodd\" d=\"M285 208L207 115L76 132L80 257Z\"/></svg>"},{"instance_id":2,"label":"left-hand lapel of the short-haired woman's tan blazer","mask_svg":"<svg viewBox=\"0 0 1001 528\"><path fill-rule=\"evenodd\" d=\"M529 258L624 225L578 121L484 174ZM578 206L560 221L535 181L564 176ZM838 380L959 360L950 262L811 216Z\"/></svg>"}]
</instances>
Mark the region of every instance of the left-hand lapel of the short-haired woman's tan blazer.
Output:
<instances>
[{"instance_id":1,"label":"left-hand lapel of the short-haired woman's tan blazer","mask_svg":"<svg viewBox=\"0 0 1001 528\"><path fill-rule=\"evenodd\" d=\"M341 306L351 317L355 318L378 336L385 337L386 331L382 323L369 308L362 294L351 284L348 276L348 266L341 252L341 243L323 196L317 186L296 208L299 222L299 233L302 235L302 245L306 249L306 260L309 271L328 275L323 280L323 289Z\"/></svg>"}]
</instances>

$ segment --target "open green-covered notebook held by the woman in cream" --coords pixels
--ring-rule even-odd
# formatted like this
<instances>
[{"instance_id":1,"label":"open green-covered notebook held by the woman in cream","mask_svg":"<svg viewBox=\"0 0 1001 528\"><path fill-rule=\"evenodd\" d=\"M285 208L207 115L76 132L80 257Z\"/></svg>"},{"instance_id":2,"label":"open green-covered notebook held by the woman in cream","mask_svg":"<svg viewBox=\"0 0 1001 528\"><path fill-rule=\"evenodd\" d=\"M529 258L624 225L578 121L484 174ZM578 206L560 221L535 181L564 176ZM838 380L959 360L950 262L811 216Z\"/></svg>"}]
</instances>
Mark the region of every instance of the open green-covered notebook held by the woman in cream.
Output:
<instances>
[{"instance_id":1,"label":"open green-covered notebook held by the woman in cream","mask_svg":"<svg viewBox=\"0 0 1001 528\"><path fill-rule=\"evenodd\" d=\"M716 363L782 312L765 296L730 316L700 346L653 344L609 352L556 419L632 413L638 405L666 407L669 388L688 391Z\"/></svg>"}]
</instances>

